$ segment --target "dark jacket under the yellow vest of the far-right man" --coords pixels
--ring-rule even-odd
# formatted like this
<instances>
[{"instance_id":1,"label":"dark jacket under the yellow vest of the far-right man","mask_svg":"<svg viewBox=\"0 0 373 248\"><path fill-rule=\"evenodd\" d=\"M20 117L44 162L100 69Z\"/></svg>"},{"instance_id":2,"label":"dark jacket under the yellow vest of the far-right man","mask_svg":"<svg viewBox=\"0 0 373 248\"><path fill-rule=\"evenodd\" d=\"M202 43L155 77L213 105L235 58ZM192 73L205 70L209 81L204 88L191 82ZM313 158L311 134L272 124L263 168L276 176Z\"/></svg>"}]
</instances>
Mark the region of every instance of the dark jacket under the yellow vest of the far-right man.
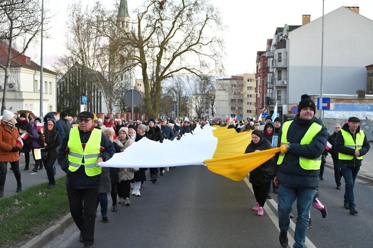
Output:
<instances>
[{"instance_id":1,"label":"dark jacket under the yellow vest of the far-right man","mask_svg":"<svg viewBox=\"0 0 373 248\"><path fill-rule=\"evenodd\" d=\"M343 130L349 132L351 136L353 137L353 140L356 141L356 134L360 132L360 126L357 127L356 133L352 134L349 128L349 124L346 123L342 126ZM338 131L337 135L335 136L335 149L338 151L338 153L343 153L343 154L348 154L348 155L355 155L355 149L344 146L345 140L343 139L343 135L341 131ZM370 149L370 144L368 142L367 136L364 135L364 141L363 141L363 146L360 149L360 156L364 156L369 152ZM357 166L361 166L361 161L363 159L356 159L356 157L353 157L351 160L344 160L344 159L339 159L339 164L340 166L346 166L349 168L354 168Z\"/></svg>"}]
</instances>

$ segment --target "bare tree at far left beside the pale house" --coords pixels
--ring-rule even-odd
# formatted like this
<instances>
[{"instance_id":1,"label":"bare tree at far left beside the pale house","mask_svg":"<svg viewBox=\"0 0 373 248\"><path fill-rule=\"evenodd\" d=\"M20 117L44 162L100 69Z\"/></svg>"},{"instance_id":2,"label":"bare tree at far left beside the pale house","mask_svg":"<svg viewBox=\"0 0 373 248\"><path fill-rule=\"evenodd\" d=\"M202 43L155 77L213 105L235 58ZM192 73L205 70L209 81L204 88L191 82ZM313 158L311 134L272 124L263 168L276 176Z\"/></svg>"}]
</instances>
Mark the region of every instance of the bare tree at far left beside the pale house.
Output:
<instances>
[{"instance_id":1,"label":"bare tree at far left beside the pale house","mask_svg":"<svg viewBox=\"0 0 373 248\"><path fill-rule=\"evenodd\" d=\"M5 63L0 63L4 70L4 88L2 94L1 114L6 109L6 96L9 69L12 60L24 53L31 41L41 31L41 8L38 0L1 0L0 2L0 46L7 50ZM18 51L12 49L19 39L24 44Z\"/></svg>"}]
</instances>

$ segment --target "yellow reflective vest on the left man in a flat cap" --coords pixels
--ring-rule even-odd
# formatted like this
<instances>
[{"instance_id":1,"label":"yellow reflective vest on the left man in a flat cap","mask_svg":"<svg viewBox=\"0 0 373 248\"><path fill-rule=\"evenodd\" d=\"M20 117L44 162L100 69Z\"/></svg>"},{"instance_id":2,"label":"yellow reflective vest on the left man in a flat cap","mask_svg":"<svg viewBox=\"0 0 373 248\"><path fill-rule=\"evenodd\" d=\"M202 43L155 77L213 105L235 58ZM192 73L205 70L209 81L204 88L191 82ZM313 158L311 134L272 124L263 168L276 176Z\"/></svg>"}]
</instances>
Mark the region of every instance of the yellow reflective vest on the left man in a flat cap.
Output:
<instances>
[{"instance_id":1,"label":"yellow reflective vest on the left man in a flat cap","mask_svg":"<svg viewBox=\"0 0 373 248\"><path fill-rule=\"evenodd\" d=\"M80 165L84 165L85 174L87 174L87 176L93 177L101 173L101 167L96 166L97 159L101 154L101 136L101 131L94 128L83 150L80 142L79 129L71 128L69 142L67 143L69 147L69 154L67 156L69 171L75 172ZM82 162L83 158L84 162Z\"/></svg>"}]
</instances>

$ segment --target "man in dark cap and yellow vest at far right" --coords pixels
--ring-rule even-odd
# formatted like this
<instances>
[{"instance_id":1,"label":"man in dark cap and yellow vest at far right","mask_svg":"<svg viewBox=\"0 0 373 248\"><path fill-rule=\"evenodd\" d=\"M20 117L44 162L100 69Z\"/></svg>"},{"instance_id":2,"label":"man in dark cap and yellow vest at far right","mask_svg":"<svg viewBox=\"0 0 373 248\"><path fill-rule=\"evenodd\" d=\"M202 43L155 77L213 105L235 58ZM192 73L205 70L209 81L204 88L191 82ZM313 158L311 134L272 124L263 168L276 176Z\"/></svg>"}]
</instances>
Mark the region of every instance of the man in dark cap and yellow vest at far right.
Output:
<instances>
[{"instance_id":1,"label":"man in dark cap and yellow vest at far right","mask_svg":"<svg viewBox=\"0 0 373 248\"><path fill-rule=\"evenodd\" d=\"M360 120L350 117L335 136L335 149L338 151L339 166L345 179L345 195L343 206L351 214L357 214L353 197L353 185L360 170L363 156L369 151L370 145L367 137L359 127Z\"/></svg>"}]
</instances>

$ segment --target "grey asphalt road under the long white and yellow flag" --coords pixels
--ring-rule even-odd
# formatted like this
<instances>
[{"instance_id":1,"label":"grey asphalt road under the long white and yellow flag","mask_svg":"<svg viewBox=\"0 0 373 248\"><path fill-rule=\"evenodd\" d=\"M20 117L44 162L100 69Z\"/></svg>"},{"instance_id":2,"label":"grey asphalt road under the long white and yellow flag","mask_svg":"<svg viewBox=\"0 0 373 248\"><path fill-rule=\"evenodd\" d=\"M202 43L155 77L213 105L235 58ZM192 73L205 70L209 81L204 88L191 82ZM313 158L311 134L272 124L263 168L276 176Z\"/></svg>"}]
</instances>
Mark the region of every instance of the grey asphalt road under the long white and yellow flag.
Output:
<instances>
[{"instance_id":1,"label":"grey asphalt road under the long white and yellow flag","mask_svg":"<svg viewBox=\"0 0 373 248\"><path fill-rule=\"evenodd\" d=\"M324 179L320 181L319 199L327 205L328 217L322 219L321 213L312 208L313 227L308 231L306 247L371 247L373 185L356 180L359 213L351 215L343 208L344 190L335 189L331 169L325 169ZM211 173L204 166L183 166L166 172L155 184L145 182L141 195L131 197L131 206L118 205L115 213L109 202L108 223L101 222L98 212L94 247L280 247L276 195L266 201L264 216L256 216L251 210L255 197L247 179L236 182ZM296 218L295 205L294 215ZM291 245L295 218L289 230ZM75 224L46 246L81 247Z\"/></svg>"}]
</instances>

